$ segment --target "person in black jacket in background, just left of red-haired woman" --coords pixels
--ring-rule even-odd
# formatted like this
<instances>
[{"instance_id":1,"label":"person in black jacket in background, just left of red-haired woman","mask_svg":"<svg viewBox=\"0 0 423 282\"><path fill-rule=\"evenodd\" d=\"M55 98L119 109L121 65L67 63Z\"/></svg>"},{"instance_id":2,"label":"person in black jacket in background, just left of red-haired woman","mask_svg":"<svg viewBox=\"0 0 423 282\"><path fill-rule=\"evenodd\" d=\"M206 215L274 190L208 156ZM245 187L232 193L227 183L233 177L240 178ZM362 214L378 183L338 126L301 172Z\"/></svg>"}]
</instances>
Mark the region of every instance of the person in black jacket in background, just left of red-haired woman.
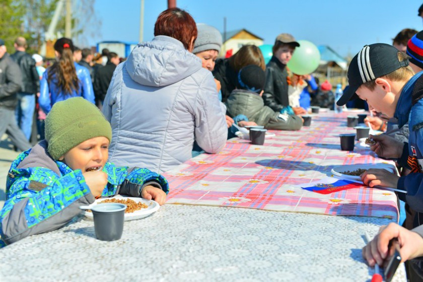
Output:
<instances>
[{"instance_id":1,"label":"person in black jacket in background, just left of red-haired woman","mask_svg":"<svg viewBox=\"0 0 423 282\"><path fill-rule=\"evenodd\" d=\"M97 70L94 79L94 94L96 96L97 106L101 108L103 105L104 97L106 97L107 89L109 89L110 82L112 81L113 72L116 65L119 64L119 56L115 52L110 52L105 66Z\"/></svg>"}]
</instances>

